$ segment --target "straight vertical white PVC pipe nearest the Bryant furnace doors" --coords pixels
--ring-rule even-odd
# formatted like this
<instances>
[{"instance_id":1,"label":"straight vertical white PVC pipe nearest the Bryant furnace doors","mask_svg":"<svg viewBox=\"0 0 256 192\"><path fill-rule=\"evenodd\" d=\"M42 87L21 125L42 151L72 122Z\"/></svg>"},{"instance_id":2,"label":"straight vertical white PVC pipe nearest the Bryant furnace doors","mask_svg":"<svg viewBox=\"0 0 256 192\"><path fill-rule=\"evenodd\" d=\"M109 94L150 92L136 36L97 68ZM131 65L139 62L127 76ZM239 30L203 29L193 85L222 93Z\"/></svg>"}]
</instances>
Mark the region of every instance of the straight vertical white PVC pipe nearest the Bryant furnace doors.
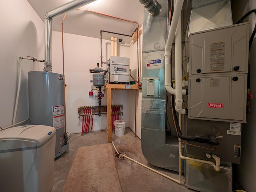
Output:
<instances>
[{"instance_id":1,"label":"straight vertical white PVC pipe nearest the Bryant furnace doors","mask_svg":"<svg viewBox=\"0 0 256 192\"><path fill-rule=\"evenodd\" d=\"M182 109L182 47L181 47L181 22L180 18L175 32L175 110L186 114Z\"/></svg>"}]
</instances>

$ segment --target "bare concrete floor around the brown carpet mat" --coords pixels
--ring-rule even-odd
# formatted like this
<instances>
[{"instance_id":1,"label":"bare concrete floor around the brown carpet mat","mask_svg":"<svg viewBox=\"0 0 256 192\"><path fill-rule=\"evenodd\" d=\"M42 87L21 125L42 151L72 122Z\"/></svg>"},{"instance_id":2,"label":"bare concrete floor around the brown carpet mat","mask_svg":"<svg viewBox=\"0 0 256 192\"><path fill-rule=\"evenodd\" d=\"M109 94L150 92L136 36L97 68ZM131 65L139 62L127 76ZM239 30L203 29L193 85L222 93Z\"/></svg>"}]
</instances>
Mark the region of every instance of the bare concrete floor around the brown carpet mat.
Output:
<instances>
[{"instance_id":1,"label":"bare concrete floor around the brown carpet mat","mask_svg":"<svg viewBox=\"0 0 256 192\"><path fill-rule=\"evenodd\" d=\"M142 154L141 140L138 137L134 137L134 133L129 128L125 129L125 135L122 137L116 137L114 132L112 132L112 140L119 152L126 153L128 157L154 168L168 176L178 179L177 172L155 167L154 165L148 163ZM54 162L54 183L52 192L62 191L77 149L81 146L107 143L107 133L106 131L96 131L83 136L81 136L80 133L72 134L68 142L70 143L70 149L58 157ZM113 155L115 155L114 151ZM184 185L177 184L172 180L152 172L151 170L148 170L147 168L144 168L128 159L120 160L118 157L115 157L115 162L123 192L194 191L186 188Z\"/></svg>"}]
</instances>

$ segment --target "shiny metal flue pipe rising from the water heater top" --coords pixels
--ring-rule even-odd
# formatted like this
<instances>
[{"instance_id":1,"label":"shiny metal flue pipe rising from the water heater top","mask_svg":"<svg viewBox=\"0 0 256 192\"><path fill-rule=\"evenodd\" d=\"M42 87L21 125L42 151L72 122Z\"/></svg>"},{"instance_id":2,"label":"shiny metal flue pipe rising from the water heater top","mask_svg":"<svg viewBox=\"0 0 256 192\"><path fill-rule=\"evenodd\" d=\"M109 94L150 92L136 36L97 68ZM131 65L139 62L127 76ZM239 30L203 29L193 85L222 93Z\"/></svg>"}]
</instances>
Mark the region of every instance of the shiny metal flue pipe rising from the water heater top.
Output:
<instances>
[{"instance_id":1,"label":"shiny metal flue pipe rising from the water heater top","mask_svg":"<svg viewBox=\"0 0 256 192\"><path fill-rule=\"evenodd\" d=\"M52 72L52 20L68 11L75 10L95 0L74 0L46 13L44 19L44 71Z\"/></svg>"}]
</instances>

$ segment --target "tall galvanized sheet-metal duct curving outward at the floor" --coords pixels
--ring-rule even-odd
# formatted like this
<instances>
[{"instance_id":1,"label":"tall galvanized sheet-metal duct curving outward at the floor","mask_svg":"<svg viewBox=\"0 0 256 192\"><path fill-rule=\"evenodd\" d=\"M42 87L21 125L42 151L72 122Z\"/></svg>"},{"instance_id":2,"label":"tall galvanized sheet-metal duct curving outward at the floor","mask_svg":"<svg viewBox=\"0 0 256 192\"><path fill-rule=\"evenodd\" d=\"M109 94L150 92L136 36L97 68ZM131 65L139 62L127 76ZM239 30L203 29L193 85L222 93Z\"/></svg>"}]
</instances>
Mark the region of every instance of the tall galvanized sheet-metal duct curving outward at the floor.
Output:
<instances>
[{"instance_id":1,"label":"tall galvanized sheet-metal duct curving outward at the floor","mask_svg":"<svg viewBox=\"0 0 256 192\"><path fill-rule=\"evenodd\" d=\"M158 1L162 6L159 16L151 17L144 10L142 47L142 153L157 167L179 170L177 137L166 136L166 89L164 86L164 48L168 25L168 0ZM147 80L154 78L158 91L147 96ZM159 79L159 88L158 88ZM158 95L158 96L157 96ZM183 161L182 161L183 162ZM183 163L182 163L183 165ZM183 167L183 166L182 166Z\"/></svg>"}]
</instances>

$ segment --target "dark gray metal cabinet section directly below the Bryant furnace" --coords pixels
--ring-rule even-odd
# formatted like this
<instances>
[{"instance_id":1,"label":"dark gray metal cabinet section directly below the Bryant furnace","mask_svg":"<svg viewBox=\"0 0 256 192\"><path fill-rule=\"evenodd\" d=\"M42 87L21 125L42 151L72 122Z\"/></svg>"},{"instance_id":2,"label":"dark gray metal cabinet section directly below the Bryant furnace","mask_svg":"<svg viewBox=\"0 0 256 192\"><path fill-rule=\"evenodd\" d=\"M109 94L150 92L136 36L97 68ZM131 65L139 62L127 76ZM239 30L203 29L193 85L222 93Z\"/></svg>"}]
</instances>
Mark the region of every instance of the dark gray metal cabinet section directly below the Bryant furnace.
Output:
<instances>
[{"instance_id":1,"label":"dark gray metal cabinet section directly below the Bryant furnace","mask_svg":"<svg viewBox=\"0 0 256 192\"><path fill-rule=\"evenodd\" d=\"M236 149L241 147L241 135L227 134L227 131L230 131L230 122L186 119L186 129L184 130L185 134L205 136L213 135L214 137L219 137L218 140L220 141L220 145L217 146L211 146L206 143L188 142L201 147L210 148L212 150L187 145L187 155L196 155L197 157L200 157L200 159L209 160L206 158L206 153L210 153L220 157L220 161L240 164L239 155L234 153Z\"/></svg>"}]
</instances>

